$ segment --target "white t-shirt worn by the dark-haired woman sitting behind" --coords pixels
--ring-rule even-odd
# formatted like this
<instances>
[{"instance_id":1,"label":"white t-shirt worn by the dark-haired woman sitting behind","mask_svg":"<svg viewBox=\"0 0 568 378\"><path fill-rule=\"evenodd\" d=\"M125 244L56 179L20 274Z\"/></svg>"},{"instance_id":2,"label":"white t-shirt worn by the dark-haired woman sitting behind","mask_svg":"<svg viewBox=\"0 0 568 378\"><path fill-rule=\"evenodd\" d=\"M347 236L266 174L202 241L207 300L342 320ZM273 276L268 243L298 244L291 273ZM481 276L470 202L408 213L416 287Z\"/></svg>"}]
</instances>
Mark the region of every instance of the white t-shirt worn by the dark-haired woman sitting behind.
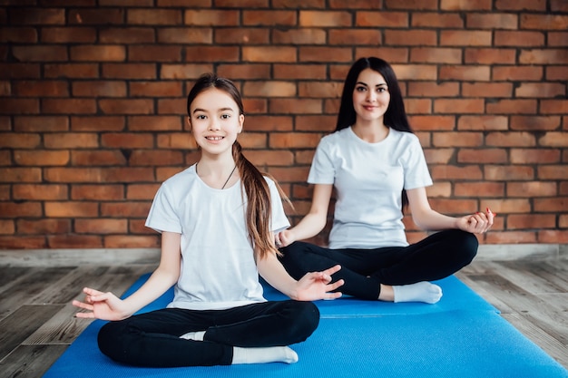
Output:
<instances>
[{"instance_id":1,"label":"white t-shirt worn by the dark-haired woman sitting behind","mask_svg":"<svg viewBox=\"0 0 568 378\"><path fill-rule=\"evenodd\" d=\"M402 189L432 185L415 134L389 129L368 143L350 127L321 139L308 183L333 184L337 201L330 248L405 247Z\"/></svg>"}]
</instances>

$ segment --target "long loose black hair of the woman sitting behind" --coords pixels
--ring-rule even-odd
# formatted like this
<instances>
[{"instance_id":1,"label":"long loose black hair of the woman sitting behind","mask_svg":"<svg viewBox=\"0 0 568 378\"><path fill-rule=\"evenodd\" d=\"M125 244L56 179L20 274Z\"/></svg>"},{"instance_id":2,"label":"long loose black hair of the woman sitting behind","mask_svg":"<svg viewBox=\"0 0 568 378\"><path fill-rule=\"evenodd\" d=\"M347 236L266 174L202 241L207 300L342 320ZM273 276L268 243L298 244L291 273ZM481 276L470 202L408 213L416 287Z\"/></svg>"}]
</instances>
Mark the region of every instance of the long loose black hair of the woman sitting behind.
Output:
<instances>
[{"instance_id":1,"label":"long loose black hair of the woman sitting behind","mask_svg":"<svg viewBox=\"0 0 568 378\"><path fill-rule=\"evenodd\" d=\"M341 104L339 105L336 131L354 125L357 120L357 113L353 106L353 91L355 91L359 73L367 68L380 73L385 79L385 82L387 82L388 92L390 93L390 102L388 102L388 108L385 112L383 121L385 126L397 131L413 132L410 127L410 123L406 118L405 102L402 99L402 93L400 92L400 86L398 85L395 71L386 61L374 56L358 59L357 62L353 63L349 69L348 75L343 83L343 92L341 93ZM402 210L404 212L404 209L408 204L408 197L406 196L405 189L402 190L401 196Z\"/></svg>"}]
</instances>

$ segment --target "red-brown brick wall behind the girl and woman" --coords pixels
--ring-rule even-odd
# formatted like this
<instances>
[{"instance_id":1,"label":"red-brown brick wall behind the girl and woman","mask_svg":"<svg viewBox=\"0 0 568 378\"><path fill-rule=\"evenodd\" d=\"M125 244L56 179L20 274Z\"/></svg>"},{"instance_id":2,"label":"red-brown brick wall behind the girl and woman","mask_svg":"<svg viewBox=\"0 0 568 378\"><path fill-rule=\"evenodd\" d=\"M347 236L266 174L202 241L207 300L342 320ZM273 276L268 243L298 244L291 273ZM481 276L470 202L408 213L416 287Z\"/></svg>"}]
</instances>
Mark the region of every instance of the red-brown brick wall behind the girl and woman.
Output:
<instances>
[{"instance_id":1,"label":"red-brown brick wall behind the girl and woman","mask_svg":"<svg viewBox=\"0 0 568 378\"><path fill-rule=\"evenodd\" d=\"M0 248L157 247L143 222L196 159L185 96L205 72L240 85L240 141L298 221L342 81L369 55L401 81L434 208L492 208L484 243L568 243L566 0L0 5Z\"/></svg>"}]
</instances>

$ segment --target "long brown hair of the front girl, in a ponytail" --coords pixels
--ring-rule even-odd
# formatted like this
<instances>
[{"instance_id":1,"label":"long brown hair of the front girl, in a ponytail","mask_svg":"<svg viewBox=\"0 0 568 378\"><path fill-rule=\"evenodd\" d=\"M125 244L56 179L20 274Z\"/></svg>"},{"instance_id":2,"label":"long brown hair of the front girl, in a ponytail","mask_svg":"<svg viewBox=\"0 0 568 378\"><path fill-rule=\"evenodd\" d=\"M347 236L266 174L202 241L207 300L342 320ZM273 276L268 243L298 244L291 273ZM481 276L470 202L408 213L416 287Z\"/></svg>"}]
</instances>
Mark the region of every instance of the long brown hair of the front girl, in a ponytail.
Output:
<instances>
[{"instance_id":1,"label":"long brown hair of the front girl, in a ponytail","mask_svg":"<svg viewBox=\"0 0 568 378\"><path fill-rule=\"evenodd\" d=\"M237 103L239 113L244 114L240 92L235 84L229 79L218 77L212 73L206 73L201 75L188 94L188 115L191 116L191 103L195 98L201 92L207 91L210 88L216 88L229 94L234 102ZM260 172L260 170L245 158L239 141L235 141L232 145L232 156L240 172L240 180L242 183L240 189L244 189L248 199L246 214L247 230L249 231L249 237L255 247L255 251L258 254L257 258L266 257L270 251L279 254L278 249L274 247L274 238L271 237L270 223L272 210L270 205L270 189L264 176L268 176L274 181L283 199L287 202L289 202L289 199L283 193L282 189L280 189L275 179L267 173Z\"/></svg>"}]
</instances>

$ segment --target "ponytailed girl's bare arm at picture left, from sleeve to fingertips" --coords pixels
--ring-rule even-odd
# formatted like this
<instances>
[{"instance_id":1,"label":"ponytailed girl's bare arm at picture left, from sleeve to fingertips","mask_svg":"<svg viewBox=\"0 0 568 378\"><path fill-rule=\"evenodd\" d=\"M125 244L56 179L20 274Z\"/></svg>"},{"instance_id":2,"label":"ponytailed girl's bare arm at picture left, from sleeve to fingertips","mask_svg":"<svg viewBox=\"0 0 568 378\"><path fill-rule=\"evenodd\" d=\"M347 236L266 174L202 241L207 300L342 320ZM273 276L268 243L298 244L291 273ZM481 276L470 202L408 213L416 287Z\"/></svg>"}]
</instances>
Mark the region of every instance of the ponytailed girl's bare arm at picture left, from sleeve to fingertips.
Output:
<instances>
[{"instance_id":1,"label":"ponytailed girl's bare arm at picture left, from sleeve to fingertips","mask_svg":"<svg viewBox=\"0 0 568 378\"><path fill-rule=\"evenodd\" d=\"M77 317L97 318L103 320L122 320L143 306L152 303L162 296L180 276L181 267L181 234L162 232L162 257L160 265L154 270L138 290L125 299L119 299L113 293L103 293L85 287L84 302L73 301L73 305L87 310L77 313Z\"/></svg>"}]
</instances>

